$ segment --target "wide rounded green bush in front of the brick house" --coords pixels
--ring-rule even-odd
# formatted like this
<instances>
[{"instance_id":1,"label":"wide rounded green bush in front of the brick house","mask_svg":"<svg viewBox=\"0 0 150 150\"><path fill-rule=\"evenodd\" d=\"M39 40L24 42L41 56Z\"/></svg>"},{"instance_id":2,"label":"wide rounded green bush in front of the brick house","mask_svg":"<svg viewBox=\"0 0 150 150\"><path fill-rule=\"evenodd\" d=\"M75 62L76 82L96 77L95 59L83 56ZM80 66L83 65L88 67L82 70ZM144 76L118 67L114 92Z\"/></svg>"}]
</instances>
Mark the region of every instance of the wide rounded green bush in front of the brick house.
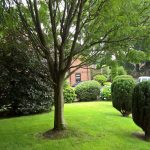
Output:
<instances>
[{"instance_id":1,"label":"wide rounded green bush in front of the brick house","mask_svg":"<svg viewBox=\"0 0 150 150\"><path fill-rule=\"evenodd\" d=\"M100 95L100 84L97 81L84 81L75 88L79 101L93 101Z\"/></svg>"}]
</instances>

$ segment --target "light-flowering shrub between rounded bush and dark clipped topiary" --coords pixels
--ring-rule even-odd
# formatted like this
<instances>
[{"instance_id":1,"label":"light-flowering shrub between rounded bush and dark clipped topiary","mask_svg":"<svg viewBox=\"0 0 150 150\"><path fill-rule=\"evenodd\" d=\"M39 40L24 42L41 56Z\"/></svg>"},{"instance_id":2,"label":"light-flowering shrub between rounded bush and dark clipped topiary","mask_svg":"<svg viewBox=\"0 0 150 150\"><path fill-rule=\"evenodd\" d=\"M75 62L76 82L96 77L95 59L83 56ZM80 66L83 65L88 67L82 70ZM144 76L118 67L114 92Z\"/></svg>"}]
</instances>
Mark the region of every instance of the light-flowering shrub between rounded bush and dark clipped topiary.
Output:
<instances>
[{"instance_id":1,"label":"light-flowering shrub between rounded bush and dark clipped topiary","mask_svg":"<svg viewBox=\"0 0 150 150\"><path fill-rule=\"evenodd\" d=\"M111 100L111 86L103 86L100 96L102 100Z\"/></svg>"}]
</instances>

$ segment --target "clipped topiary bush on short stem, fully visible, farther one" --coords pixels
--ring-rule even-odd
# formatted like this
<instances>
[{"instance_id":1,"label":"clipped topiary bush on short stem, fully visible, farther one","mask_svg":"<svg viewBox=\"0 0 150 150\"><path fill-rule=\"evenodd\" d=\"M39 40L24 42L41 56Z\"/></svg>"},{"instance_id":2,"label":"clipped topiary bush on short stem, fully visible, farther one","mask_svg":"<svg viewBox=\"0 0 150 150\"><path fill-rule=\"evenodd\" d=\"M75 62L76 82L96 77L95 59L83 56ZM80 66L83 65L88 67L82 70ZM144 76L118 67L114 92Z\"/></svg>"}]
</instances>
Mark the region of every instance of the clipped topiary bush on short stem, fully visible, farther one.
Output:
<instances>
[{"instance_id":1,"label":"clipped topiary bush on short stem, fully visible, farther one","mask_svg":"<svg viewBox=\"0 0 150 150\"><path fill-rule=\"evenodd\" d=\"M134 87L133 78L117 79L111 85L113 107L120 111L123 116L128 116L131 113Z\"/></svg>"}]
</instances>

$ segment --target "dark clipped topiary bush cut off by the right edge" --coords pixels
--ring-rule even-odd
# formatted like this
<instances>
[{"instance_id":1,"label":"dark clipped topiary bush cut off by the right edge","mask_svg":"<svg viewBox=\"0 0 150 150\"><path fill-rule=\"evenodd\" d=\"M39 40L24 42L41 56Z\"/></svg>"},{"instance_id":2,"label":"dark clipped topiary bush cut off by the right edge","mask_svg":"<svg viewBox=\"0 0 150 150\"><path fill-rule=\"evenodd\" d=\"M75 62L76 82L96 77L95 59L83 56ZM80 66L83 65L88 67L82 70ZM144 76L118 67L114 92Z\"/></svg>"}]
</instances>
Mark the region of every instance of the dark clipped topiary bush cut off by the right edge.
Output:
<instances>
[{"instance_id":1,"label":"dark clipped topiary bush cut off by the right edge","mask_svg":"<svg viewBox=\"0 0 150 150\"><path fill-rule=\"evenodd\" d=\"M150 81L137 84L132 98L133 121L145 132L145 140L150 141Z\"/></svg>"}]
</instances>

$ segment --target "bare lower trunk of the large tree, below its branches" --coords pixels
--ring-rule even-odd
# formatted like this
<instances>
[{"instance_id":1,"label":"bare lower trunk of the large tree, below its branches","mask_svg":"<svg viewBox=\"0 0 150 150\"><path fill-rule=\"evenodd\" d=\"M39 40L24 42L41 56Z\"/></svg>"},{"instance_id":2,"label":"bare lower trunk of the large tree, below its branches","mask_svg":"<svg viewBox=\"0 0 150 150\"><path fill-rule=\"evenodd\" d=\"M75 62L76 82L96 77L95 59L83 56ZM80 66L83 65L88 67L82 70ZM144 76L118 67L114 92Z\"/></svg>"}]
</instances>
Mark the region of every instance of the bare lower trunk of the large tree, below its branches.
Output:
<instances>
[{"instance_id":1,"label":"bare lower trunk of the large tree, below its branches","mask_svg":"<svg viewBox=\"0 0 150 150\"><path fill-rule=\"evenodd\" d=\"M59 77L54 85L54 131L65 129L64 121L64 97L63 97L64 77Z\"/></svg>"}]
</instances>

